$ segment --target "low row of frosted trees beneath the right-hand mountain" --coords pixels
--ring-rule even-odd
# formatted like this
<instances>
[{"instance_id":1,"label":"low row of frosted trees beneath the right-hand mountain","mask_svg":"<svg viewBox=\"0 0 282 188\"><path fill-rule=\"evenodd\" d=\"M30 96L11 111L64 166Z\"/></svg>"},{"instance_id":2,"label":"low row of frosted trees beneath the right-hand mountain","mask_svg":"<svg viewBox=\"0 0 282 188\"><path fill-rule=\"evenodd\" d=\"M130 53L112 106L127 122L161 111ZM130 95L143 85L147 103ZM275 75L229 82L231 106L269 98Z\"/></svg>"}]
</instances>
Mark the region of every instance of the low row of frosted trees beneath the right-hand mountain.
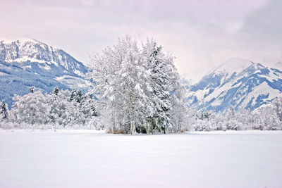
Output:
<instances>
[{"instance_id":1,"label":"low row of frosted trees beneath the right-hand mountain","mask_svg":"<svg viewBox=\"0 0 282 188\"><path fill-rule=\"evenodd\" d=\"M196 112L193 114L190 130L282 130L282 97L255 111L235 111L231 106L226 112Z\"/></svg>"}]
</instances>

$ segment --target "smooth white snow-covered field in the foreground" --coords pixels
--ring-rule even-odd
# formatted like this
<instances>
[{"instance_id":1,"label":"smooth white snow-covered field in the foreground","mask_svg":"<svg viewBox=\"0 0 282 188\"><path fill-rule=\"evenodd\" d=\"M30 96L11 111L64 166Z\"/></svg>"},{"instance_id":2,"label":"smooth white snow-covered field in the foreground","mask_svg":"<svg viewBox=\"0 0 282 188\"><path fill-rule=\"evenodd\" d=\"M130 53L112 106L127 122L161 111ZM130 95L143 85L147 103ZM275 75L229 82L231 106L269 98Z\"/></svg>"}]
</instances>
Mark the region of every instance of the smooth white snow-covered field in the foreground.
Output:
<instances>
[{"instance_id":1,"label":"smooth white snow-covered field in the foreground","mask_svg":"<svg viewBox=\"0 0 282 188\"><path fill-rule=\"evenodd\" d=\"M0 187L282 187L282 132L0 130Z\"/></svg>"}]
</instances>

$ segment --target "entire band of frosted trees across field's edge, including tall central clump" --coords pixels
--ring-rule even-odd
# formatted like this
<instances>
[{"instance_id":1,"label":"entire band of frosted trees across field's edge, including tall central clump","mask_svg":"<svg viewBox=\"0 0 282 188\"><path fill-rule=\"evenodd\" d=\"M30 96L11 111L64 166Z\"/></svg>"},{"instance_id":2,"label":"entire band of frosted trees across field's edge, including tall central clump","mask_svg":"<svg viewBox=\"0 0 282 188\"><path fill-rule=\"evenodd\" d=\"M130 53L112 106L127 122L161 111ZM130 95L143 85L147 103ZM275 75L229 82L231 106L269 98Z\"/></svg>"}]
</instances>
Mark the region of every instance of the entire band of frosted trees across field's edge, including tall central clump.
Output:
<instances>
[{"instance_id":1,"label":"entire band of frosted trees across field's edge, including tall central clump","mask_svg":"<svg viewBox=\"0 0 282 188\"><path fill-rule=\"evenodd\" d=\"M134 134L188 130L282 130L282 98L258 111L196 111L185 105L174 57L154 39L138 46L131 37L118 39L91 57L88 92L78 89L42 94L30 88L14 96L8 110L1 103L0 128L107 129Z\"/></svg>"}]
</instances>

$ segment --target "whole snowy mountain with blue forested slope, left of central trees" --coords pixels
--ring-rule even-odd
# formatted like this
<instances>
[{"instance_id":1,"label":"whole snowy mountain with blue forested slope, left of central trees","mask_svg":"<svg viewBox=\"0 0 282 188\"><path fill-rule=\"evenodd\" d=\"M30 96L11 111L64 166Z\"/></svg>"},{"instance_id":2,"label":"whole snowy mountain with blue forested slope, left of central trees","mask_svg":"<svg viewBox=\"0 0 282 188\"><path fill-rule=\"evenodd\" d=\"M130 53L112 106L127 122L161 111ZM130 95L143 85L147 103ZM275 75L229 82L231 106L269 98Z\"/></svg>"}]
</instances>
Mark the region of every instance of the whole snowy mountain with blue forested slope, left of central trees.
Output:
<instances>
[{"instance_id":1,"label":"whole snowy mountain with blue forested slope, left of central trees","mask_svg":"<svg viewBox=\"0 0 282 188\"><path fill-rule=\"evenodd\" d=\"M44 92L85 89L87 68L61 49L35 39L0 40L0 100L12 104L13 94L27 94L35 86Z\"/></svg>"}]
</instances>

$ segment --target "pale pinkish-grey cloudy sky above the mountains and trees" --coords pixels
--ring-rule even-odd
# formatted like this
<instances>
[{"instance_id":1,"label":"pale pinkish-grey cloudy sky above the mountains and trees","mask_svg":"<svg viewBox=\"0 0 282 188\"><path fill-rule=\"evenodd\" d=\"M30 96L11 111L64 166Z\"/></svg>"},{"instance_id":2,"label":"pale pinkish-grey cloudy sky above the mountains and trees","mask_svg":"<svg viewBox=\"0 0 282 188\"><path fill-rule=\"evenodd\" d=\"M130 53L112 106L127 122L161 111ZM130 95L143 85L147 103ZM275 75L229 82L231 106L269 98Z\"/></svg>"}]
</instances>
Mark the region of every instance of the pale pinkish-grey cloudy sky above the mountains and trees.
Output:
<instances>
[{"instance_id":1,"label":"pale pinkish-grey cloudy sky above the mountains and trees","mask_svg":"<svg viewBox=\"0 0 282 188\"><path fill-rule=\"evenodd\" d=\"M28 37L89 63L130 35L154 38L192 81L229 58L282 61L280 0L0 0L0 38Z\"/></svg>"}]
</instances>

